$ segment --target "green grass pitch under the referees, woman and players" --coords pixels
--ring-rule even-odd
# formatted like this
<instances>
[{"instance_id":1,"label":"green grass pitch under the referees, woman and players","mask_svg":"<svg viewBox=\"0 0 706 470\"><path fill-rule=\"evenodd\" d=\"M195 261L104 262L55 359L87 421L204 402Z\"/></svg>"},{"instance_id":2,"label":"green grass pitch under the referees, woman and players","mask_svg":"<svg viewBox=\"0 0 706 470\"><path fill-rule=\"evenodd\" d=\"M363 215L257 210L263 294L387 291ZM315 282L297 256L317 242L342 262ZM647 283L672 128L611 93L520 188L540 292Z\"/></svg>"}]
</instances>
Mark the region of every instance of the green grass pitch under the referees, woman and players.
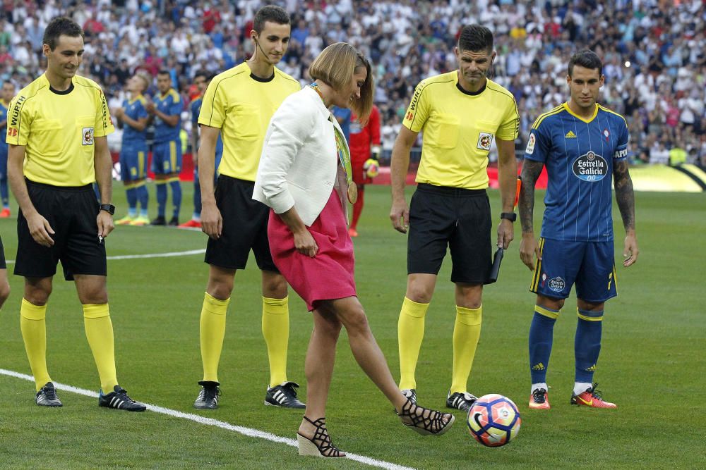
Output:
<instances>
[{"instance_id":1,"label":"green grass pitch under the referees, woman and players","mask_svg":"<svg viewBox=\"0 0 706 470\"><path fill-rule=\"evenodd\" d=\"M184 183L184 220L191 214L191 192L191 183ZM498 192L489 194L497 216ZM119 218L125 212L119 183L114 195ZM154 215L152 186L150 197ZM500 279L484 292L483 330L469 391L515 400L522 414L518 438L498 449L481 447L470 438L461 412L451 431L439 438L403 428L355 364L343 334L327 416L334 442L349 452L420 469L705 468L704 195L638 193L636 199L640 259L631 268L618 266L619 296L606 305L596 374L617 410L569 404L574 297L555 328L548 377L552 409L527 409L527 333L534 296L527 291L530 271L517 254L520 226L515 223L515 242L505 254ZM537 225L542 208L538 201ZM389 209L388 187L366 189L355 240L356 278L373 333L397 378L406 240L390 227ZM16 212L13 204L13 218L0 221L7 259L16 256ZM614 217L619 261L623 229L617 209ZM107 239L109 256L204 247L202 233L169 228L118 227ZM191 405L201 378L198 318L208 273L203 255L114 260L108 266L121 385L137 400L196 412ZM450 384L455 313L449 277L447 259L426 317L417 368L419 402L428 407L443 407ZM10 282L11 297L0 311L0 368L30 373L18 319L23 280L10 276ZM289 305L289 379L301 383L306 396L304 354L311 319L291 290ZM301 412L263 406L268 366L260 316L260 276L251 259L237 273L229 307L220 408L198 414L294 438ZM97 390L76 290L60 275L47 311L47 338L52 378ZM1 468L369 468L349 460L299 457L294 447L154 412L99 409L96 400L70 392L59 392L63 408L42 409L33 391L29 381L0 375Z\"/></svg>"}]
</instances>

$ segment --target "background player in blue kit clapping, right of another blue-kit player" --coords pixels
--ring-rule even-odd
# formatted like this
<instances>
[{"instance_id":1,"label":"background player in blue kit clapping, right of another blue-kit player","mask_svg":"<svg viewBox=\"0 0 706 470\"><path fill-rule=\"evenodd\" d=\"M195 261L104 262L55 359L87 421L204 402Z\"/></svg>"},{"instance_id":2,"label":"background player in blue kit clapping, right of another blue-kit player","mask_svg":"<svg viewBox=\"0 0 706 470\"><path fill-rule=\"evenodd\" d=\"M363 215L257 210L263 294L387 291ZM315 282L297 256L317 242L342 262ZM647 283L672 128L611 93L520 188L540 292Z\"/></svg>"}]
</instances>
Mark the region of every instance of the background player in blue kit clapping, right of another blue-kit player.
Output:
<instances>
[{"instance_id":1,"label":"background player in blue kit clapping, right of another blue-kit player","mask_svg":"<svg viewBox=\"0 0 706 470\"><path fill-rule=\"evenodd\" d=\"M157 89L153 102L147 104L147 112L155 120L155 144L152 147L152 171L155 172L157 185L157 218L152 225L167 225L165 210L167 206L167 183L172 187L172 205L174 211L169 225L179 225L181 209L181 109L184 103L177 90L172 88L172 76L169 71L157 73Z\"/></svg>"}]
</instances>

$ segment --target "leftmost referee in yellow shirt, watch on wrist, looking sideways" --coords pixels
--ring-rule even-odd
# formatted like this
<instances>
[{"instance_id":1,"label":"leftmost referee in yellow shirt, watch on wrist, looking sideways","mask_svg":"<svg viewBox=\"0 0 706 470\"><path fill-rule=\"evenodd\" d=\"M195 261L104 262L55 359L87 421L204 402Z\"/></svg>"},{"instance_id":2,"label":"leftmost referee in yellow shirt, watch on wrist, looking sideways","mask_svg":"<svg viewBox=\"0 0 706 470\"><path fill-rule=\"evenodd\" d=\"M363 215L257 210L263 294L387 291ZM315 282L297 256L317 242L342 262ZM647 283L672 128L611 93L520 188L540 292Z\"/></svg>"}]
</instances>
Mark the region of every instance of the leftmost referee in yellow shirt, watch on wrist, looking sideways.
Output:
<instances>
[{"instance_id":1,"label":"leftmost referee in yellow shirt, watch on wrist, looking sideways","mask_svg":"<svg viewBox=\"0 0 706 470\"><path fill-rule=\"evenodd\" d=\"M20 205L15 274L24 276L20 328L35 377L37 404L61 407L47 371L44 316L56 264L76 282L83 324L100 375L98 405L142 412L115 373L113 327L108 310L104 238L113 230L112 160L106 135L113 132L100 87L76 75L83 31L68 18L44 30L47 71L11 103L6 142L8 175ZM92 183L100 186L102 204Z\"/></svg>"}]
</instances>

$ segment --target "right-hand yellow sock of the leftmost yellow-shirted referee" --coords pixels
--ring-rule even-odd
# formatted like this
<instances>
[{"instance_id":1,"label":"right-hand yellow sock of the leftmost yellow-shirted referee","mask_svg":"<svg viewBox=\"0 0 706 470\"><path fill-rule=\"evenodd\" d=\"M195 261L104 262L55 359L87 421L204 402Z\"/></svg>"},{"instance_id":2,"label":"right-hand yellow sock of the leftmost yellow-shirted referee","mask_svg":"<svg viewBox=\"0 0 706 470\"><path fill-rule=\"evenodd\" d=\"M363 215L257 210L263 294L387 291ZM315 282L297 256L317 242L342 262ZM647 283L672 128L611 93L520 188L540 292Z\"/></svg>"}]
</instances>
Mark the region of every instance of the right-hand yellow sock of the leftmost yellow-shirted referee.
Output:
<instances>
[{"instance_id":1,"label":"right-hand yellow sock of the leftmost yellow-shirted referee","mask_svg":"<svg viewBox=\"0 0 706 470\"><path fill-rule=\"evenodd\" d=\"M115 374L113 323L108 304L83 304L83 328L100 376L100 388L110 393L118 379Z\"/></svg>"}]
</instances>

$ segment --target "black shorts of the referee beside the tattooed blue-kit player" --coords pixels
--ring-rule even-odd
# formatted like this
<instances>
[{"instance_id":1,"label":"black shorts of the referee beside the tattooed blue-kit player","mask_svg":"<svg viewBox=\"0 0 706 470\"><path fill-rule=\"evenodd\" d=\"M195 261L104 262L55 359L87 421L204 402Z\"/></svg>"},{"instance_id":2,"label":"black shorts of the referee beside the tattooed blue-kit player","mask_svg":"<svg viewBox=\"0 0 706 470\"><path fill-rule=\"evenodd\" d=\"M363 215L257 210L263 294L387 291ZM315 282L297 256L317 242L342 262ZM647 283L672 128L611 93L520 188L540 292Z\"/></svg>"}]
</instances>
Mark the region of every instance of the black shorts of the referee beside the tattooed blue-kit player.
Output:
<instances>
[{"instance_id":1,"label":"black shorts of the referee beside the tattooed blue-kit player","mask_svg":"<svg viewBox=\"0 0 706 470\"><path fill-rule=\"evenodd\" d=\"M419 183L409 204L407 273L438 274L451 251L451 282L485 284L492 268L485 190Z\"/></svg>"}]
</instances>

